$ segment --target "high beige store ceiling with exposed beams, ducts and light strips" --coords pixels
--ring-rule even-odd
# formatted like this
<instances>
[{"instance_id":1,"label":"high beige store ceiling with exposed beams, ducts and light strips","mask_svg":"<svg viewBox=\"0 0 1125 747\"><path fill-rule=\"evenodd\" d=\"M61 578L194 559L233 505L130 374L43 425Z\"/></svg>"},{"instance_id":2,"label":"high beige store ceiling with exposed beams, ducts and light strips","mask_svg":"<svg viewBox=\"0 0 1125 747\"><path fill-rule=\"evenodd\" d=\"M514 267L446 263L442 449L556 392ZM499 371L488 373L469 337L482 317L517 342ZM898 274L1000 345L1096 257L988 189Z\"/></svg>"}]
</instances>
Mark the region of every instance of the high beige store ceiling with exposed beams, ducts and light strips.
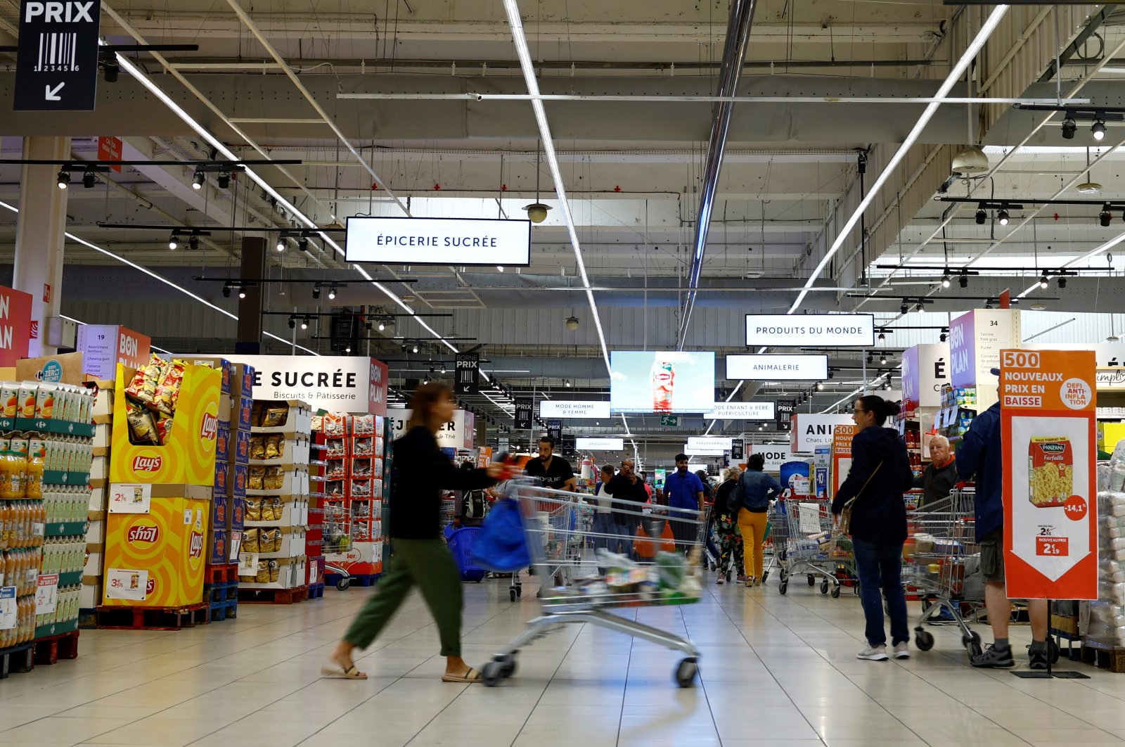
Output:
<instances>
[{"instance_id":1,"label":"high beige store ceiling with exposed beams, ducts and light strips","mask_svg":"<svg viewBox=\"0 0 1125 747\"><path fill-rule=\"evenodd\" d=\"M0 46L16 44L17 11L0 0ZM354 215L522 218L534 201L552 209L534 226L529 268L404 256L357 270L338 252L342 233L313 235L307 252L287 238L268 252L266 349L331 351L327 316L290 330L290 314L378 310L400 315L366 343L396 386L451 369L456 348L478 349L514 393L602 396L608 350L742 352L749 312L876 314L885 349L830 351L834 378L800 389L811 394L802 407L820 411L865 379L893 377L897 351L936 342L951 314L1005 289L1037 313L1024 331L1041 341L1102 340L1125 325L1125 249L1115 251L1125 122L1112 111L1125 107L1125 6L108 0L101 24L109 45L198 50L124 54L117 80L99 82L97 110L73 116L11 111L15 55L0 52L0 159L20 159L27 136L72 138L63 310L168 350L230 350L238 304L222 280L237 277L248 236L272 246L284 228ZM547 97L538 104L529 73ZM1064 137L1064 116L1050 110L1059 101L1109 109L1105 137L1081 118ZM87 189L80 164L98 159L99 136L120 137L122 158L141 163ZM965 145L988 164L957 177ZM194 166L172 163L222 150L297 163L253 165L254 179L226 187L209 173L198 190ZM20 178L20 165L0 164L6 263ZM208 235L170 250L177 227ZM314 299L318 280L335 281L336 298ZM799 393L717 388L722 398ZM470 404L506 422L505 402ZM685 430L639 416L583 425L654 444L681 444ZM686 430L709 425L687 418ZM712 432L746 428L720 421Z\"/></svg>"}]
</instances>

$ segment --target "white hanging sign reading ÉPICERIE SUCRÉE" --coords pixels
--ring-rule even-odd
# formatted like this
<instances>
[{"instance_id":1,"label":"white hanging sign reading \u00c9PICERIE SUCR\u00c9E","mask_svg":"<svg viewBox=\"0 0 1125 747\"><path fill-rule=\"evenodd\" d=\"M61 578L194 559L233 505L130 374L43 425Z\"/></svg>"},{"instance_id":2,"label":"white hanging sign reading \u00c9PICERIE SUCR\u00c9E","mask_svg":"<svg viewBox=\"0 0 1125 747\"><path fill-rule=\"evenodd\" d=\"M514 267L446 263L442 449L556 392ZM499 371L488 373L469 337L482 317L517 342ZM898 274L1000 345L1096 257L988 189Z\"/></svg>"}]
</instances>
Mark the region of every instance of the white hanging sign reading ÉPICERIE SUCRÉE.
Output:
<instances>
[{"instance_id":1,"label":"white hanging sign reading \u00c9PICERIE SUCR\u00c9E","mask_svg":"<svg viewBox=\"0 0 1125 747\"><path fill-rule=\"evenodd\" d=\"M498 218L348 218L349 262L380 264L531 264L531 220Z\"/></svg>"}]
</instances>

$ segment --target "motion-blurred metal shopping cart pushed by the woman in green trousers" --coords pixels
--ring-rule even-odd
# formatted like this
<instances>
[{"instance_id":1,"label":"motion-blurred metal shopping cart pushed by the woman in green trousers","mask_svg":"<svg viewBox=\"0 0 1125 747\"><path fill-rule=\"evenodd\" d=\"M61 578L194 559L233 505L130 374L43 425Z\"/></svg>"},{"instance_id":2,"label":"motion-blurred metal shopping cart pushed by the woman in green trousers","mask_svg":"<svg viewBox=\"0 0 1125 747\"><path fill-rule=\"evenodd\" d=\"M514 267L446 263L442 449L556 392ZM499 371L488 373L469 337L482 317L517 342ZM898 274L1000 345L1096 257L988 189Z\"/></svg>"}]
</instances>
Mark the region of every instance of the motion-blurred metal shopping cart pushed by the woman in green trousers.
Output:
<instances>
[{"instance_id":1,"label":"motion-blurred metal shopping cart pushed by the woman in green trousers","mask_svg":"<svg viewBox=\"0 0 1125 747\"><path fill-rule=\"evenodd\" d=\"M519 650L554 627L588 622L682 651L685 658L680 662L675 677L682 687L690 686L695 681L700 656L694 644L618 616L610 610L699 601L706 512L677 508L667 516L645 514L639 504L614 498L611 501L614 515L630 528L642 526L644 537L624 538L585 530L583 541L577 543L575 536L583 531L582 522L576 520L583 508L579 496L539 487L522 478L508 483L507 489L520 503L531 562L541 583L542 611L484 666L484 683L492 686L512 676ZM676 536L690 534L693 539L670 539L665 531L669 522L680 522ZM603 547L595 550L595 544ZM605 546L623 552L611 554ZM633 559L644 558L649 551L650 559Z\"/></svg>"}]
</instances>

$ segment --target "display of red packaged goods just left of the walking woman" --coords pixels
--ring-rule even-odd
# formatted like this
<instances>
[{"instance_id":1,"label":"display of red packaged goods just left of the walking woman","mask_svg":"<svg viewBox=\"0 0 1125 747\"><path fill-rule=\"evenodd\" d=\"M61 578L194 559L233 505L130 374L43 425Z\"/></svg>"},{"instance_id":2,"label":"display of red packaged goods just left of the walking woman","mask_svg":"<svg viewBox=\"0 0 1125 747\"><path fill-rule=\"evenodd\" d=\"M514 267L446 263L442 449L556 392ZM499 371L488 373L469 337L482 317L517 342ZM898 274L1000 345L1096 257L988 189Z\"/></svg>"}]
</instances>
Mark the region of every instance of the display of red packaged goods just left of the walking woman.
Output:
<instances>
[{"instance_id":1,"label":"display of red packaged goods just left of the walking woman","mask_svg":"<svg viewBox=\"0 0 1125 747\"><path fill-rule=\"evenodd\" d=\"M386 544L387 418L324 415L321 440L325 562L374 582L382 574Z\"/></svg>"}]
</instances>

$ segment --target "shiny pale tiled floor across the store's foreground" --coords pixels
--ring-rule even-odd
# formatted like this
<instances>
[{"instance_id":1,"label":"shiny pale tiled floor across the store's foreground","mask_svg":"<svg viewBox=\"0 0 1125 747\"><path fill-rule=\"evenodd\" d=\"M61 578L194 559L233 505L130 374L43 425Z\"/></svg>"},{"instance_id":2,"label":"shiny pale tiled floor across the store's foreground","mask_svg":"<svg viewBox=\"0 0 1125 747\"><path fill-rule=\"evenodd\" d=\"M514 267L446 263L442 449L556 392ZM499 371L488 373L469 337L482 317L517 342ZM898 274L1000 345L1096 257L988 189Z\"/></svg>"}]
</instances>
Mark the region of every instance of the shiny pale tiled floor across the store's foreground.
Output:
<instances>
[{"instance_id":1,"label":"shiny pale tiled floor across the store's foreground","mask_svg":"<svg viewBox=\"0 0 1125 747\"><path fill-rule=\"evenodd\" d=\"M466 585L468 660L487 660L538 612L534 585L524 590L510 604L506 582ZM322 678L328 649L374 591L243 605L237 620L180 632L84 630L76 660L0 682L0 745L1125 745L1125 675L1065 662L1092 678L974 670L955 629L940 627L930 628L932 651L860 662L855 596L799 583L782 596L774 579L711 586L696 605L622 612L700 646L691 690L672 681L677 654L578 626L521 651L500 687L442 684L417 596L359 659L370 680ZM1014 628L1019 654L1027 636Z\"/></svg>"}]
</instances>

